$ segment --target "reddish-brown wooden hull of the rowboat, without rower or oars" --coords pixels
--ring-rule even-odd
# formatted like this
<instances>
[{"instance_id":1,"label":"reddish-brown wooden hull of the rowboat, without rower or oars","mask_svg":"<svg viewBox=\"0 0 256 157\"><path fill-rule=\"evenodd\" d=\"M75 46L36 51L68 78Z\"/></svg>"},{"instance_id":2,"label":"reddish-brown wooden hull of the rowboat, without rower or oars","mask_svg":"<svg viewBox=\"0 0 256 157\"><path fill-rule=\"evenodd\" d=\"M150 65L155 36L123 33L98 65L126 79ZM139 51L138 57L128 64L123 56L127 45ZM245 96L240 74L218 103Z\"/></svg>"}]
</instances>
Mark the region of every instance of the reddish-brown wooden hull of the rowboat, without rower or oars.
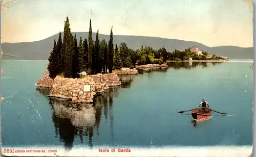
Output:
<instances>
[{"instance_id":1,"label":"reddish-brown wooden hull of the rowboat, without rower or oars","mask_svg":"<svg viewBox=\"0 0 256 157\"><path fill-rule=\"evenodd\" d=\"M211 110L206 108L206 109L202 109L202 108L198 108L198 109L193 109L191 111L191 117L193 118L193 120L205 120L210 118L211 116Z\"/></svg>"}]
</instances>

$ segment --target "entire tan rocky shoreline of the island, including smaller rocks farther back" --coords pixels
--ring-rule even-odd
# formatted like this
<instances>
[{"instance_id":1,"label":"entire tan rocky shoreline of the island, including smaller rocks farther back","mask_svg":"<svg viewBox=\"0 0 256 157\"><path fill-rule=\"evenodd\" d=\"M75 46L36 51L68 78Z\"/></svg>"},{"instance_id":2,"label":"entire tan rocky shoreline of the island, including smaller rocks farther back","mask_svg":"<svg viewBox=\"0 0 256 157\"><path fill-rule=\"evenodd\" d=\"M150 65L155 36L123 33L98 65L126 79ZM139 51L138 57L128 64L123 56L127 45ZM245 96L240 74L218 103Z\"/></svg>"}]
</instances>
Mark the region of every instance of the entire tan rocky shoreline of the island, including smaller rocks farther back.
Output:
<instances>
[{"instance_id":1,"label":"entire tan rocky shoreline of the island, including smaller rocks farther back","mask_svg":"<svg viewBox=\"0 0 256 157\"><path fill-rule=\"evenodd\" d=\"M167 68L166 64L147 64L136 66L137 69ZM120 75L138 74L136 68L121 68L113 73L87 75L83 79L72 79L56 76L55 79L49 77L49 71L36 82L37 89L44 88L49 93L48 96L58 97L73 102L92 103L94 95L104 92L113 86L120 86ZM118 76L119 75L119 76Z\"/></svg>"}]
</instances>

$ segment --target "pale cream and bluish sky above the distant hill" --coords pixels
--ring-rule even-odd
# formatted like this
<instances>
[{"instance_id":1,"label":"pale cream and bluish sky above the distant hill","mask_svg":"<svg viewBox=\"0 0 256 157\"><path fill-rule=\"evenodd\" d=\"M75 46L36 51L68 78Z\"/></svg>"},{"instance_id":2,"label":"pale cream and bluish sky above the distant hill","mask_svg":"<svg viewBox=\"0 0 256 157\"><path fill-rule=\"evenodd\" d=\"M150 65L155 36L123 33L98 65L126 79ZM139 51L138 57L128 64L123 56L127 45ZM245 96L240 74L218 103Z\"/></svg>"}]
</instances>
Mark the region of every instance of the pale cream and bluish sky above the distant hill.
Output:
<instances>
[{"instance_id":1,"label":"pale cream and bluish sky above the distant hill","mask_svg":"<svg viewBox=\"0 0 256 157\"><path fill-rule=\"evenodd\" d=\"M151 36L207 46L253 46L253 6L247 0L4 0L2 42L30 42L64 29Z\"/></svg>"}]
</instances>

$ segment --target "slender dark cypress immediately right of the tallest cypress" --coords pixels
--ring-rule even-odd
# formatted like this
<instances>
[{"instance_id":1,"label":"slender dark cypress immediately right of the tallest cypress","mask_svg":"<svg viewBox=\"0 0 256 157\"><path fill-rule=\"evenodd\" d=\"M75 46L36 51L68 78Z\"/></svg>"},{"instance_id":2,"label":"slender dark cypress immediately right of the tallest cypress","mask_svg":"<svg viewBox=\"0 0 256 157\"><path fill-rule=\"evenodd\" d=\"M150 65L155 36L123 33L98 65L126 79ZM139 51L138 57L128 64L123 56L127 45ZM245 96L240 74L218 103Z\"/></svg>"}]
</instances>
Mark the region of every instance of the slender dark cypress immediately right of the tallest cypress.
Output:
<instances>
[{"instance_id":1,"label":"slender dark cypress immediately right of the tallest cypress","mask_svg":"<svg viewBox=\"0 0 256 157\"><path fill-rule=\"evenodd\" d=\"M78 78L79 77L79 51L77 47L77 39L76 35L74 37L74 56L72 60L72 77Z\"/></svg>"}]
</instances>

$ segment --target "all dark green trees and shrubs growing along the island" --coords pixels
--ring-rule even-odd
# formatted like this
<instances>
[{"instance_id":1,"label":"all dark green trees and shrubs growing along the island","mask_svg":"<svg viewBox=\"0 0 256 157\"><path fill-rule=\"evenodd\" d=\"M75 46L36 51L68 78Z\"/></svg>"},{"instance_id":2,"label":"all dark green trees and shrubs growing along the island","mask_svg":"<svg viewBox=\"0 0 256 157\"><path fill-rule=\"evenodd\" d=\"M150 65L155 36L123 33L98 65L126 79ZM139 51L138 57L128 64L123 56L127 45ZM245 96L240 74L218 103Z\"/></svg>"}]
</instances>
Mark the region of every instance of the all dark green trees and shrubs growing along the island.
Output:
<instances>
[{"instance_id":1,"label":"all dark green trees and shrubs growing along the island","mask_svg":"<svg viewBox=\"0 0 256 157\"><path fill-rule=\"evenodd\" d=\"M108 44L105 40L99 40L99 30L96 40L92 38L92 21L90 19L88 39L73 36L70 29L69 18L66 18L64 25L63 41L59 33L58 42L54 40L53 50L49 57L48 70L50 77L61 75L68 78L79 78L78 72L86 71L87 74L113 72L122 67L133 68L135 65L163 64L167 60L184 61L193 60L219 60L220 57L213 55L208 57L206 52L203 55L192 53L189 48L185 51L174 50L168 52L164 47L155 50L150 46L141 46L134 50L122 42L119 46L113 44L113 27L110 31Z\"/></svg>"}]
</instances>

